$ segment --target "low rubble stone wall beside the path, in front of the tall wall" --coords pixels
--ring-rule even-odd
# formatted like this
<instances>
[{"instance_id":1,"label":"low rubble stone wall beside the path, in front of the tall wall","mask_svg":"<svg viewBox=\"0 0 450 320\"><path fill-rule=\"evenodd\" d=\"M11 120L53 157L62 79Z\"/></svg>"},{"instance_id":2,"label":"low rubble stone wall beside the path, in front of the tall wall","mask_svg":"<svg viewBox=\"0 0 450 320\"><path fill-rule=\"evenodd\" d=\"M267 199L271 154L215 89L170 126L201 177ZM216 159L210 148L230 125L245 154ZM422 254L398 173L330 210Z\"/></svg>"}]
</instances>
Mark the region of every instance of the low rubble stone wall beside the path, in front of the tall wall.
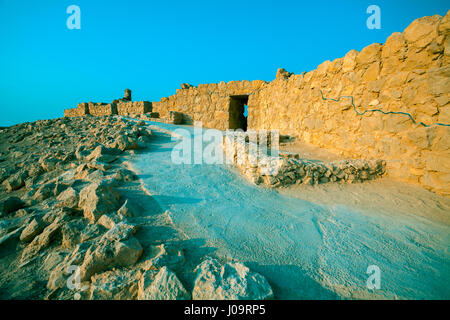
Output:
<instances>
[{"instance_id":1,"label":"low rubble stone wall beside the path, in front of the tall wall","mask_svg":"<svg viewBox=\"0 0 450 320\"><path fill-rule=\"evenodd\" d=\"M383 160L341 160L324 162L300 159L298 154L280 152L279 157L255 153L257 145L226 135L224 151L229 163L252 183L269 187L292 184L357 183L381 177L386 172ZM232 150L230 150L232 148Z\"/></svg>"}]
</instances>

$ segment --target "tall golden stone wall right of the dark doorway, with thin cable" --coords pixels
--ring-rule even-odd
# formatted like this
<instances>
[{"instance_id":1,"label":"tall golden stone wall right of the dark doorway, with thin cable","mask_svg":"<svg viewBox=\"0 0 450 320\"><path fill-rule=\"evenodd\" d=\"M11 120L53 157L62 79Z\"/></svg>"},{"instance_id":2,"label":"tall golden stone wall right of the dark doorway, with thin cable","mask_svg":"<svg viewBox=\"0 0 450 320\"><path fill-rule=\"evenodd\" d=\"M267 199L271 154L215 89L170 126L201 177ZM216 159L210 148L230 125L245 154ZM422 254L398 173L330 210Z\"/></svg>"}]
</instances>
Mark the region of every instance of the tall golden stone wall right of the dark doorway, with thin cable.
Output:
<instances>
[{"instance_id":1,"label":"tall golden stone wall right of the dark doorway, with thin cable","mask_svg":"<svg viewBox=\"0 0 450 320\"><path fill-rule=\"evenodd\" d=\"M250 96L248 127L282 134L347 157L387 160L390 176L450 195L450 12L424 17L384 45L285 76ZM356 110L381 109L407 115Z\"/></svg>"}]
</instances>

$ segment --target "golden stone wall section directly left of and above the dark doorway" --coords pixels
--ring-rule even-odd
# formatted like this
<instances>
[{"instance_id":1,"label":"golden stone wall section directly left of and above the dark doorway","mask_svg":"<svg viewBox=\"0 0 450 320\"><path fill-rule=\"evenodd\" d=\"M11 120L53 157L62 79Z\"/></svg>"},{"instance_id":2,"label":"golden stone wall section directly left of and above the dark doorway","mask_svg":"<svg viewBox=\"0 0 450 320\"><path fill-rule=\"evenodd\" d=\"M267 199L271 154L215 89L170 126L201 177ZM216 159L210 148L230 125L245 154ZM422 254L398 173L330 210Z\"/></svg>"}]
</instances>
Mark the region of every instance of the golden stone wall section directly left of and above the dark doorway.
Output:
<instances>
[{"instance_id":1,"label":"golden stone wall section directly left of and above the dark doorway","mask_svg":"<svg viewBox=\"0 0 450 320\"><path fill-rule=\"evenodd\" d=\"M248 95L261 90L265 81L230 81L228 83L200 84L178 89L175 95L153 102L153 111L161 117L168 117L169 111L184 114L185 123L202 121L207 128L228 129L230 96Z\"/></svg>"}]
</instances>

